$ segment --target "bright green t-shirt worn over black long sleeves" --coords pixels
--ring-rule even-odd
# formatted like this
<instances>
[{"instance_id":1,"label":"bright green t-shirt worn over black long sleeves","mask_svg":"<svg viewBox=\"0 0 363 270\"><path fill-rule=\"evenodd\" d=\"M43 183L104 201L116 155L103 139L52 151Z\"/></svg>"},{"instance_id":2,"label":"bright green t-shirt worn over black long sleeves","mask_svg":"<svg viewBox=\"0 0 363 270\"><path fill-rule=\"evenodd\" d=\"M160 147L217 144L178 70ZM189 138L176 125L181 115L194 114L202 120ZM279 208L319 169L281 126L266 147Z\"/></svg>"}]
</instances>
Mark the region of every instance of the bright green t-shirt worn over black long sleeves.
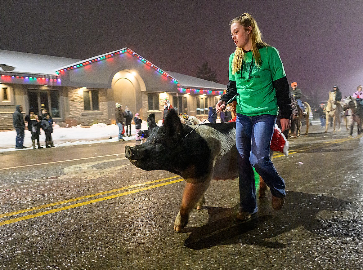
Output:
<instances>
[{"instance_id":1,"label":"bright green t-shirt worn over black long sleeves","mask_svg":"<svg viewBox=\"0 0 363 270\"><path fill-rule=\"evenodd\" d=\"M229 56L229 80L236 81L237 113L256 116L278 114L276 90L272 81L286 76L278 50L272 46L259 49L261 65L256 66L252 51L244 54L241 70L232 74L234 53ZM251 61L253 60L252 64ZM249 79L250 75L250 79Z\"/></svg>"}]
</instances>

